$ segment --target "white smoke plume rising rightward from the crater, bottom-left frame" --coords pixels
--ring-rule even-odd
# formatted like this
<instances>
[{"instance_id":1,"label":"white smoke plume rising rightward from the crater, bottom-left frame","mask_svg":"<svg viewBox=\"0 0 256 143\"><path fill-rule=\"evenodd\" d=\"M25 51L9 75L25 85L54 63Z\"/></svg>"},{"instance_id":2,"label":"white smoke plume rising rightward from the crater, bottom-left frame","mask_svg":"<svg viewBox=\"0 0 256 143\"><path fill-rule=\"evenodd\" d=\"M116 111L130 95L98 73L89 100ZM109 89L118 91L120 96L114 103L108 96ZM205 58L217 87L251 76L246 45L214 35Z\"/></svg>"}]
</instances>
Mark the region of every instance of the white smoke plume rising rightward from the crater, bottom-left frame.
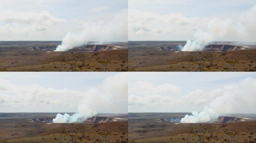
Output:
<instances>
[{"instance_id":1,"label":"white smoke plume rising rightward from the crater, bottom-left frame","mask_svg":"<svg viewBox=\"0 0 256 143\"><path fill-rule=\"evenodd\" d=\"M65 113L57 114L53 123L74 123L82 122L95 116L101 108L108 109L114 113L128 112L127 94L128 78L126 73L118 73L115 76L107 77L101 88L91 88L86 96L80 99L77 112L73 115Z\"/></svg>"}]
</instances>

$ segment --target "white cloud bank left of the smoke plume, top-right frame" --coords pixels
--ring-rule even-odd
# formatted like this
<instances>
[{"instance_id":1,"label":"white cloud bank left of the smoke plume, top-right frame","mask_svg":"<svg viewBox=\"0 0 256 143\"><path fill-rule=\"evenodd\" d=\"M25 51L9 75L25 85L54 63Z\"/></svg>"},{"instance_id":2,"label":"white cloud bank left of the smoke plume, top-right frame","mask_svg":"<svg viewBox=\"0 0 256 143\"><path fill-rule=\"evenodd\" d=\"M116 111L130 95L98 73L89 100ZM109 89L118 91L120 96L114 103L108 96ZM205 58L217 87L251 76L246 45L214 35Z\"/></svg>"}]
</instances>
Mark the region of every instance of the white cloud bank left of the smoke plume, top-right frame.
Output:
<instances>
[{"instance_id":1,"label":"white cloud bank left of the smoke plume, top-right frame","mask_svg":"<svg viewBox=\"0 0 256 143\"><path fill-rule=\"evenodd\" d=\"M187 18L181 13L160 15L129 9L128 38L129 40L170 40L170 35L182 38L192 37L195 29L205 26L207 19Z\"/></svg>"}]
</instances>

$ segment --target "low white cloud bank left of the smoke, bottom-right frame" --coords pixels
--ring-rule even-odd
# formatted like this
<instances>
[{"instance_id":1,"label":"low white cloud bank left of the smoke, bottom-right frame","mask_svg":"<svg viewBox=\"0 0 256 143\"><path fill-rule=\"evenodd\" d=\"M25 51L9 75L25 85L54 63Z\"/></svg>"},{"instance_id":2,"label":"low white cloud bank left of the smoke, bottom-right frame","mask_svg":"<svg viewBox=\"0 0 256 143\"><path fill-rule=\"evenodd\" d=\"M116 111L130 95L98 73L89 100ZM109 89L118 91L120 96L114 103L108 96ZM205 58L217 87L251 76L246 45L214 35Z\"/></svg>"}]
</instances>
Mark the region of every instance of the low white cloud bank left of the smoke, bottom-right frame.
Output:
<instances>
[{"instance_id":1,"label":"low white cloud bank left of the smoke, bottom-right frame","mask_svg":"<svg viewBox=\"0 0 256 143\"><path fill-rule=\"evenodd\" d=\"M138 87L139 88L139 87ZM194 91L195 93L197 90ZM193 92L192 92L193 94ZM188 112L193 109L200 109L210 101L207 96L196 98L191 96L183 97L177 94L169 93L167 95L137 93L128 95L128 111L129 112ZM193 94L195 95L195 94ZM203 95L205 95L203 93ZM185 95L186 96L186 95Z\"/></svg>"}]
</instances>

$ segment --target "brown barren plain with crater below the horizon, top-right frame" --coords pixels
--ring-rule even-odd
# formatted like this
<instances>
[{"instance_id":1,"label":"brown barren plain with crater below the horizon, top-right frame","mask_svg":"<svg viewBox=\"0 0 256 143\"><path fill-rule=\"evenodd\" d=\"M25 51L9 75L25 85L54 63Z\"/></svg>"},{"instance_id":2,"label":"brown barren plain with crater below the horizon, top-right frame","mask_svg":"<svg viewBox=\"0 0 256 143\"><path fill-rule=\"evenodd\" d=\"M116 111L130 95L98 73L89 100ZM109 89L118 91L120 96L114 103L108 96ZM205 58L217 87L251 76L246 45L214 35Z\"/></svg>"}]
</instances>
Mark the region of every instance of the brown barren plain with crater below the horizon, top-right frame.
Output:
<instances>
[{"instance_id":1,"label":"brown barren plain with crater below the horizon, top-right frame","mask_svg":"<svg viewBox=\"0 0 256 143\"><path fill-rule=\"evenodd\" d=\"M129 41L129 71L255 71L254 43L213 42L181 51L186 41Z\"/></svg>"}]
</instances>

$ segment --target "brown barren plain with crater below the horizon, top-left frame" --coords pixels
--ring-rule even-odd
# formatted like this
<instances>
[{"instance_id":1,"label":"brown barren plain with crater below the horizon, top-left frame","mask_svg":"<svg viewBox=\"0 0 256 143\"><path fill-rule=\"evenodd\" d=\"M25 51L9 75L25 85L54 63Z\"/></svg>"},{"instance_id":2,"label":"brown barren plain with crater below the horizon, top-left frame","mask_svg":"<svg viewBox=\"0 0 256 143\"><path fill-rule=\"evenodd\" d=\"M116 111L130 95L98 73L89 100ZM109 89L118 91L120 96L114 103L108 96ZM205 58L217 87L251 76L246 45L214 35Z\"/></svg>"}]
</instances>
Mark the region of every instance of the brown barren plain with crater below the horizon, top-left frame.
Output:
<instances>
[{"instance_id":1,"label":"brown barren plain with crater below the horizon, top-left frame","mask_svg":"<svg viewBox=\"0 0 256 143\"><path fill-rule=\"evenodd\" d=\"M126 71L126 42L89 42L54 52L61 41L0 41L0 71Z\"/></svg>"}]
</instances>

